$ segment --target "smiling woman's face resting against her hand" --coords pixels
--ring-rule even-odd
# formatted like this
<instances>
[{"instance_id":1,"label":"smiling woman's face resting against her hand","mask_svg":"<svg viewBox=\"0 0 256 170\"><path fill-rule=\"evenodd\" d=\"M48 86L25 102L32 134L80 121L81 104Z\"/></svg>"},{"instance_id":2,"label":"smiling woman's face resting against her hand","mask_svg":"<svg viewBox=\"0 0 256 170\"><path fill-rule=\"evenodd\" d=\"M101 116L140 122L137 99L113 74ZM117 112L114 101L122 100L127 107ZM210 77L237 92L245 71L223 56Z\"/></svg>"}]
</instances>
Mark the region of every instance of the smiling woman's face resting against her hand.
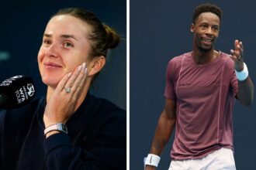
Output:
<instances>
[{"instance_id":1,"label":"smiling woman's face resting against her hand","mask_svg":"<svg viewBox=\"0 0 256 170\"><path fill-rule=\"evenodd\" d=\"M88 42L90 26L71 15L57 15L47 24L38 53L43 83L57 87L61 78L86 62L91 50Z\"/></svg>"}]
</instances>

